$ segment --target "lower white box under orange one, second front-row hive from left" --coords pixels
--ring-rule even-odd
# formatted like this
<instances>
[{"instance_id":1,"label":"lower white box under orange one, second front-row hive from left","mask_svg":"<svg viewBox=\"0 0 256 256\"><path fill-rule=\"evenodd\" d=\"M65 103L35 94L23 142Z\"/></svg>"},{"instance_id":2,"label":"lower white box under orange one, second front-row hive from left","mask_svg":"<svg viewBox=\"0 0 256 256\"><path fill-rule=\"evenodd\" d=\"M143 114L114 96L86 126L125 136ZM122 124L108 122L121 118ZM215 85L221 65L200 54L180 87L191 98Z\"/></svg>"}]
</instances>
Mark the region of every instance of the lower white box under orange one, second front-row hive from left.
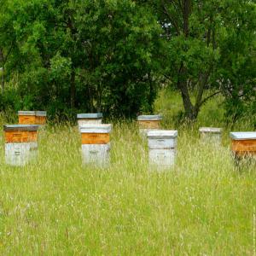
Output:
<instances>
[{"instance_id":1,"label":"lower white box under orange one, second front-row hive from left","mask_svg":"<svg viewBox=\"0 0 256 256\"><path fill-rule=\"evenodd\" d=\"M99 167L108 167L110 162L110 143L108 144L83 144L83 165L93 164Z\"/></svg>"}]
</instances>

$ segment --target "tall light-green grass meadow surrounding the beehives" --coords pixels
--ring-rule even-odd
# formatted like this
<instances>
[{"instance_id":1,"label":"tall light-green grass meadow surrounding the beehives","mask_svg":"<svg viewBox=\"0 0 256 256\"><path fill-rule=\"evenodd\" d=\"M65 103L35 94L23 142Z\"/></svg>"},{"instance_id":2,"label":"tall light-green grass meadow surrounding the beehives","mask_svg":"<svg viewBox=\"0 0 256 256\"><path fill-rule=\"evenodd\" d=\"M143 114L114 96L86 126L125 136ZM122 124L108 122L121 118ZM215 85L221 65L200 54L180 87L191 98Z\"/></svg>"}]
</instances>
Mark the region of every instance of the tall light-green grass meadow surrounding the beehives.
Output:
<instances>
[{"instance_id":1,"label":"tall light-green grass meadow surrounding the beehives","mask_svg":"<svg viewBox=\"0 0 256 256\"><path fill-rule=\"evenodd\" d=\"M173 129L181 102L164 97L156 111ZM135 123L113 125L106 170L81 166L77 126L40 131L38 162L24 167L4 164L1 133L0 254L255 255L256 164L235 165L229 128L220 147L201 143L197 132L222 125L219 104L209 102L195 125L179 127L169 172L148 170Z\"/></svg>"}]
</instances>

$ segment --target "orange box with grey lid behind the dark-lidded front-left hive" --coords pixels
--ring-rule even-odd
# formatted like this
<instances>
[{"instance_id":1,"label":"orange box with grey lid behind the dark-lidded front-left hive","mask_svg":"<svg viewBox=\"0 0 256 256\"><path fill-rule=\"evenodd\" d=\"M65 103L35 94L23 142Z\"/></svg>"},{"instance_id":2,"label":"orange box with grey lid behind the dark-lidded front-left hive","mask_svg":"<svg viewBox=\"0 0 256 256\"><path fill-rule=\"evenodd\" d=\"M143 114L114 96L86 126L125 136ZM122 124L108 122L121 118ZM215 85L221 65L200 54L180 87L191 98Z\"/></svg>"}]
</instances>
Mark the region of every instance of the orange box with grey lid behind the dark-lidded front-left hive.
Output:
<instances>
[{"instance_id":1,"label":"orange box with grey lid behind the dark-lidded front-left hive","mask_svg":"<svg viewBox=\"0 0 256 256\"><path fill-rule=\"evenodd\" d=\"M19 111L20 125L45 125L46 112L45 111Z\"/></svg>"}]
</instances>

